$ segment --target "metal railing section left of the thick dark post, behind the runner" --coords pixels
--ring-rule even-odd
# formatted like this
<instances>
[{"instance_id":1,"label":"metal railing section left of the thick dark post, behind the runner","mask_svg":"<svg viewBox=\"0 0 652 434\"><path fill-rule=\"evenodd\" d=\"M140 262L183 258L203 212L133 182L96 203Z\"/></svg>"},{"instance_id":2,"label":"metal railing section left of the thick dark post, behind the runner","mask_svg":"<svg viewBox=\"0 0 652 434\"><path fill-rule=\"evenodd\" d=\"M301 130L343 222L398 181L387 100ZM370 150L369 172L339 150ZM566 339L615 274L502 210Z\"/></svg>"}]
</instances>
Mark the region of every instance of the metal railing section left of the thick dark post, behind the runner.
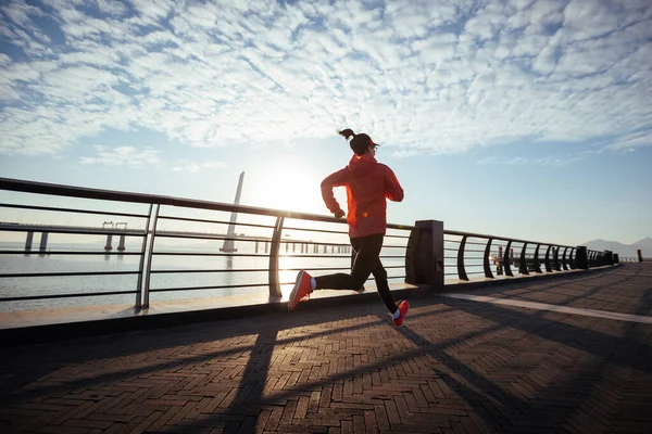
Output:
<instances>
[{"instance_id":1,"label":"metal railing section left of the thick dark post, behind the runner","mask_svg":"<svg viewBox=\"0 0 652 434\"><path fill-rule=\"evenodd\" d=\"M59 197L75 197L75 199L91 199L93 201L110 201L129 204L145 204L149 205L149 212L147 213L117 213L111 210L91 210L78 207L46 207L40 205L26 205L26 204L0 204L0 208L15 208L25 210L37 210L37 212L51 212L51 213L74 213L79 215L102 215L106 217L121 217L131 218L140 220L141 229L126 229L126 228L98 228L89 232L87 226L68 226L63 228L54 225L22 225L22 224L0 224L0 231L9 232L27 232L28 238L29 231L40 231L43 233L41 240L49 233L61 233L61 234L77 234L88 235L120 235L129 237L141 240L140 250L138 252L88 252L88 251L51 251L51 250L39 250L38 252L32 248L25 250L0 250L0 255L104 255L109 256L136 256L138 257L138 268L128 271L53 271L53 272L11 272L2 270L0 273L0 284L4 279L11 278L57 278L57 277L85 277L85 276L137 276L137 283L134 290L120 290L120 291L85 291L74 293L57 293L57 294L38 294L38 295L11 295L0 296L0 302L21 302L21 301L35 301L35 299L50 299L50 298L70 298L70 297L95 297L95 296L106 296L106 295L126 295L130 294L135 296L135 306L137 308L147 308L150 304L150 295L153 293L165 293L165 292L184 292L184 291L201 291L201 290L221 290L221 289L255 289L264 288L268 289L269 301L279 301L281 297L281 285L292 284L293 281L281 282L279 279L280 271L298 271L301 268L281 268L279 267L279 259L283 258L311 258L318 257L322 259L351 259L351 255L343 255L343 253L350 253L350 244L348 242L333 242L333 241L312 241L308 240L308 234L327 234L327 235L340 235L340 238L347 238L348 228L346 227L346 220L336 219L334 217L313 215L308 213L293 213L286 210L277 210L269 208L252 207L244 205L233 205L217 202L198 201L189 199L179 199L171 196L161 196L152 194L136 194L128 192L117 192L109 190L96 190L86 189L70 186L58 186L41 182L22 181L13 179L0 178L0 190L15 191L22 193L36 193L39 195L54 195ZM214 219L214 218L197 218L197 217L181 217L175 216L174 209L190 209L190 210L209 210L209 212L222 212L222 213L237 213L239 216L256 216L271 218L273 224L251 224L238 221L236 226L238 228L252 228L267 234L260 234L258 237L228 237L226 233L209 233L209 232L185 232L185 231L165 231L159 229L164 222L180 222L180 224L200 224L200 225L222 225L228 226L230 221L228 219ZM167 213L164 213L167 210ZM331 229L319 229L310 227L300 227L300 225L288 225L288 221L310 221L318 224L335 225L338 230ZM126 224L125 224L126 226ZM405 243L409 239L409 232L413 230L410 226L400 225L388 225L388 234L386 235L386 244L384 250L405 250ZM288 240L283 238L284 231L301 232L306 234L305 240ZM223 231L226 232L226 231ZM391 233L393 232L393 233ZM404 234L401 234L401 233ZM236 241L237 243L255 244L255 253L217 253L216 250L213 252L185 252L178 250L159 250L156 248L161 240L193 240L193 241ZM347 239L348 240L348 239ZM392 244L392 241L405 241L403 244ZM29 241L32 242L32 241ZM108 241L109 242L109 241ZM47 241L46 241L47 243ZM265 253L259 253L259 243L264 243ZM285 246L286 252L289 252L289 246L292 245L294 250L296 245L300 244L302 253L283 253ZM311 255L308 250L312 247L313 253L323 248L322 254ZM330 250L331 254L327 254L327 250ZM335 254L337 250L337 254ZM205 269L205 268L167 268L167 269L154 269L158 257L226 257L226 258L265 258L265 266L258 268L241 268L241 269ZM401 254L381 254L381 259L398 259L404 258L405 253ZM401 266L386 266L388 270L402 269ZM333 267L311 267L306 268L309 271L347 271L350 269L350 263L346 266L333 266ZM152 288L151 279L153 276L162 275L192 275L192 273L263 273L266 275L266 279L240 284L209 284L209 285L173 285L164 288ZM404 279L403 275L390 276L389 279Z\"/></svg>"}]
</instances>

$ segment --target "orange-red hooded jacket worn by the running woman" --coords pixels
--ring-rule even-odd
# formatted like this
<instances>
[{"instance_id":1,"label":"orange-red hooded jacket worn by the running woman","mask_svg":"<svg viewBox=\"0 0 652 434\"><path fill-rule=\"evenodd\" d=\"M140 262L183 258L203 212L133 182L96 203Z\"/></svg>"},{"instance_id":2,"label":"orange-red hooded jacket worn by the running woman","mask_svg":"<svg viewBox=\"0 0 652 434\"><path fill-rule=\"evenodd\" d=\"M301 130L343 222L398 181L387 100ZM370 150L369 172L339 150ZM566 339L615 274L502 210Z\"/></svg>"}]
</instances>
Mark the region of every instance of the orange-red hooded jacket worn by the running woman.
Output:
<instances>
[{"instance_id":1,"label":"orange-red hooded jacket worn by the running woman","mask_svg":"<svg viewBox=\"0 0 652 434\"><path fill-rule=\"evenodd\" d=\"M353 155L349 165L322 181L322 197L328 209L341 209L334 187L347 188L349 237L360 238L387 230L387 201L403 200L403 188L393 171L369 154Z\"/></svg>"}]
</instances>

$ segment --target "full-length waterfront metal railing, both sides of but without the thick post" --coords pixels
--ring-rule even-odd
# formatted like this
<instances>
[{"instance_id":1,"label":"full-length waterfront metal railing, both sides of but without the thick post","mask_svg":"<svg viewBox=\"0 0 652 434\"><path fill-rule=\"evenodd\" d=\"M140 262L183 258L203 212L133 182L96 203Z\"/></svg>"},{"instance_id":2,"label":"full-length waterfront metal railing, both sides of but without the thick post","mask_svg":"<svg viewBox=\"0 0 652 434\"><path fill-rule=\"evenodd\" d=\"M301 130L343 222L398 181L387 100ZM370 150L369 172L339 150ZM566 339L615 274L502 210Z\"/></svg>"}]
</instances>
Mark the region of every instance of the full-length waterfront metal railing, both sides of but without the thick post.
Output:
<instances>
[{"instance_id":1,"label":"full-length waterfront metal railing, both sides of but without the thick post","mask_svg":"<svg viewBox=\"0 0 652 434\"><path fill-rule=\"evenodd\" d=\"M98 297L98 296L124 296L131 295L135 298L136 308L148 308L150 296L152 294L163 294L172 292L189 292L204 290L233 290L233 289L267 289L268 302L278 302L281 298L281 286L291 285L293 281L281 281L280 275L306 269L311 272L346 272L351 267L352 253L348 240L348 228L346 220L334 217L314 215L308 213L294 213L262 207L252 207L244 205L234 205L209 201L199 201L181 197L162 196L153 194L137 194L129 192L118 192L110 190L97 190L70 186L58 186L51 183L32 182L0 178L0 190L8 192L34 193L38 194L39 201L42 195L57 196L61 199L108 201L104 204L127 204L142 207L139 212L118 212L114 206L102 209L91 209L88 205L83 206L42 206L42 204L25 203L0 203L0 209L9 208L16 210L28 210L29 213L54 213L58 215L79 215L79 216L105 216L108 218L117 218L122 227L110 227L102 225L101 228L88 227L88 225L43 225L42 220L38 224L22 222L0 222L0 232L26 232L27 239L24 250L0 250L0 257L7 255L52 255L57 256L97 256L105 257L133 257L137 259L137 267L129 270L83 270L83 271L48 271L30 272L2 269L0 272L0 285L8 279L18 278L61 278L61 277L136 277L135 289L116 290L111 288L109 291L59 291L54 294L10 294L0 295L2 302L28 302L38 299L72 298L72 297ZM146 210L147 209L147 210ZM252 221L236 222L238 228L246 228L250 231L249 235L242 233L228 235L226 230L220 232L208 231L205 229L195 229L192 231L184 229L185 226L200 228L228 227L231 221L228 218L215 218L215 213L237 213L240 217L250 217ZM188 216L187 214L191 214ZM48 214L49 215L49 214ZM40 217L43 218L43 217ZM111 221L112 222L112 221ZM105 221L104 221L105 224ZM170 229L165 226L181 226L181 228ZM113 225L112 225L113 226ZM127 229L127 226L130 228ZM327 227L327 228L325 228ZM136 229L134 229L136 228ZM388 269L389 279L409 280L409 275L414 275L414 246L411 241L415 233L423 228L417 226L388 225L384 252L380 258L385 268ZM36 252L32 250L33 233L41 232L40 248ZM59 233L65 235L102 235L106 237L105 251L89 252L88 250L47 250L48 234ZM300 234L299 239L288 239L288 234ZM605 265L609 263L605 252L587 251L586 266L578 264L576 258L577 250L582 247L541 243L530 240L518 240L505 237L496 237L488 234L478 234L461 231L443 231L443 258L441 260L443 268L443 278L449 282L468 281L473 279L497 279L511 278L515 273L530 275L544 272L559 272L574 268L589 268ZM118 252L112 251L112 237L121 238L121 247ZM138 242L138 251L125 251L125 239L131 242ZM318 240L314 240L317 238ZM173 246L165 247L165 242L174 244L176 241L187 241L192 243L201 242L237 242L239 245L255 246L248 248L248 253L230 252L228 250L208 248L204 251L188 251ZM171 245L172 245L171 244ZM300 245L300 252L296 253L297 245ZM226 244L225 244L226 246ZM290 246L292 252L290 252ZM264 253L260 250L264 247ZM284 248L285 247L285 248ZM312 252L310 250L312 248ZM285 252L284 252L285 250ZM330 254L328 254L330 250ZM337 253L336 253L337 250ZM584 254L584 253L582 253ZM246 268L183 268L178 261L172 259L183 257L189 259L199 258L251 258L255 266ZM584 257L584 256L582 256ZM168 258L172 265L165 267L154 267L158 260ZM303 260L303 259L324 259L328 266L310 265L299 267L298 264L286 267L280 266L281 259ZM336 264L346 259L346 265ZM389 264L386 264L389 261ZM400 263L400 265L397 265ZM612 260L613 263L613 260ZM435 264L435 263L432 263ZM434 265L436 267L436 265ZM224 275L243 273L248 276L247 281L226 282L216 284L208 282L206 284L168 284L153 288L152 278L154 277L188 277L197 273L202 275ZM262 276L259 280L253 280L253 276ZM412 278L411 278L412 279ZM442 279L442 281L444 280ZM186 279L188 280L188 279Z\"/></svg>"}]
</instances>

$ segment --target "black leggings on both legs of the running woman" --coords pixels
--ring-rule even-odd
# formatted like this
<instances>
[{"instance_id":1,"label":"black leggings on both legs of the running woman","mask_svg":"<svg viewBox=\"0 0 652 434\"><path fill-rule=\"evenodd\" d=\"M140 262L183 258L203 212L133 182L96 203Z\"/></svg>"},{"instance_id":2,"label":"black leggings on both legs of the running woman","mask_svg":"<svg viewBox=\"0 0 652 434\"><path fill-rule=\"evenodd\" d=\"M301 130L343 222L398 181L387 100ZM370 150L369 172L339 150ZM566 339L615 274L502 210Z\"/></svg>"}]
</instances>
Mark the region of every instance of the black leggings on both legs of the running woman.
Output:
<instances>
[{"instance_id":1,"label":"black leggings on both legs of the running woman","mask_svg":"<svg viewBox=\"0 0 652 434\"><path fill-rule=\"evenodd\" d=\"M362 288L369 275L374 275L378 295L385 302L385 306L390 312L397 311L397 305L389 292L387 283L387 271L380 263L380 248L383 248L383 233L373 235L352 238L351 246L355 254L355 259L351 267L351 273L347 275L338 272L335 275L326 275L315 277L317 290L353 290L358 291Z\"/></svg>"}]
</instances>

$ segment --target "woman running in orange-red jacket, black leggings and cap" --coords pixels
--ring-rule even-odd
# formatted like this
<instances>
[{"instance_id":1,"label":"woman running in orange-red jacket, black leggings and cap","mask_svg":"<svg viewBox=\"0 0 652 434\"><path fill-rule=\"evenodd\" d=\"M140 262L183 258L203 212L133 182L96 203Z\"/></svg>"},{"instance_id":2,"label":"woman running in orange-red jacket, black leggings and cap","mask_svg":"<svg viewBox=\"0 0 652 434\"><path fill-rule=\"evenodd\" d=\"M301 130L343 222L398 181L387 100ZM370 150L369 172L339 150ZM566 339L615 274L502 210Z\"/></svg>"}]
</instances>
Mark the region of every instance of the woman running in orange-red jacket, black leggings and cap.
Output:
<instances>
[{"instance_id":1,"label":"woman running in orange-red jacket, black leggings and cap","mask_svg":"<svg viewBox=\"0 0 652 434\"><path fill-rule=\"evenodd\" d=\"M297 283L290 293L288 309L294 310L299 302L305 302L315 290L360 291L369 275L374 275L378 294L396 327L403 324L410 308L408 301L394 303L387 282L387 271L380 263L383 239L387 231L387 201L401 202L403 189L393 171L376 161L377 143L365 133L356 135L347 128L338 131L349 142L353 156L349 165L322 181L322 197L336 218L344 217L344 212L333 194L334 187L346 187L349 215L349 238L355 259L351 273L335 273L312 277L299 271Z\"/></svg>"}]
</instances>

